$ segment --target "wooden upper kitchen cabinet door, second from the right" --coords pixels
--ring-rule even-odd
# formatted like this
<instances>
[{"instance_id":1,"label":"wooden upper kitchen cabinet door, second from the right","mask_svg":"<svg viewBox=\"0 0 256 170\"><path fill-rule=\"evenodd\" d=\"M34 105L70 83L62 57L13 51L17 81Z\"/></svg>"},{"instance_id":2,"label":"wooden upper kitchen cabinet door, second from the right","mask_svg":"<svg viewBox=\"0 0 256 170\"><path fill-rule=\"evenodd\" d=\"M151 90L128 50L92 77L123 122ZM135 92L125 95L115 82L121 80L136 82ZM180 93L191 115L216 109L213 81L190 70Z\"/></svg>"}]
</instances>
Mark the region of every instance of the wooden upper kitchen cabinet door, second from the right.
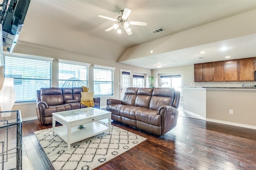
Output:
<instances>
[{"instance_id":1,"label":"wooden upper kitchen cabinet door, second from the right","mask_svg":"<svg viewBox=\"0 0 256 170\"><path fill-rule=\"evenodd\" d=\"M225 81L238 81L238 60L225 61Z\"/></svg>"}]
</instances>

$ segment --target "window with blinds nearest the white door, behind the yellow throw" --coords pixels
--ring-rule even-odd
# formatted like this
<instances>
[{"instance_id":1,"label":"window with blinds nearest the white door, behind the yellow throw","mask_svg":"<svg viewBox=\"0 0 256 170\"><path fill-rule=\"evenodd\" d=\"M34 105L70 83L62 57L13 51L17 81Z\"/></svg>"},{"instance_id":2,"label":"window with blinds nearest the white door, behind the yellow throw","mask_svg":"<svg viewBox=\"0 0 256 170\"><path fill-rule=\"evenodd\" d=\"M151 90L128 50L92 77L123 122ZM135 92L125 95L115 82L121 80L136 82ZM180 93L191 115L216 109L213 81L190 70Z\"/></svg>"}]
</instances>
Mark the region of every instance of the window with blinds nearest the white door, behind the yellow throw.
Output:
<instances>
[{"instance_id":1,"label":"window with blinds nearest the white door, behind the yellow throw","mask_svg":"<svg viewBox=\"0 0 256 170\"><path fill-rule=\"evenodd\" d=\"M114 95L114 69L101 65L94 65L94 95Z\"/></svg>"}]
</instances>

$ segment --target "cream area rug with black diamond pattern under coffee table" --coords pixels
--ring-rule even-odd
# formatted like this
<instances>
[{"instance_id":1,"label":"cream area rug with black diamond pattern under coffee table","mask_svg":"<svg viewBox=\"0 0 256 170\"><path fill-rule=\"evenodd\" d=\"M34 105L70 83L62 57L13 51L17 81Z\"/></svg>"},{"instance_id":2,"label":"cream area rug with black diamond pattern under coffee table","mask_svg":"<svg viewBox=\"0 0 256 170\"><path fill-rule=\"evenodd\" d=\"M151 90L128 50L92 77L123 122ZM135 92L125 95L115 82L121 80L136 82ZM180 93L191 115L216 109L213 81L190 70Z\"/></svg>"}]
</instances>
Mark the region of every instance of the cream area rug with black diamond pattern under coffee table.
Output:
<instances>
[{"instance_id":1,"label":"cream area rug with black diamond pattern under coffee table","mask_svg":"<svg viewBox=\"0 0 256 170\"><path fill-rule=\"evenodd\" d=\"M69 151L62 138L52 136L52 128L34 133L55 170L91 170L146 140L122 128L111 127L111 135L106 131L73 143Z\"/></svg>"}]
</instances>

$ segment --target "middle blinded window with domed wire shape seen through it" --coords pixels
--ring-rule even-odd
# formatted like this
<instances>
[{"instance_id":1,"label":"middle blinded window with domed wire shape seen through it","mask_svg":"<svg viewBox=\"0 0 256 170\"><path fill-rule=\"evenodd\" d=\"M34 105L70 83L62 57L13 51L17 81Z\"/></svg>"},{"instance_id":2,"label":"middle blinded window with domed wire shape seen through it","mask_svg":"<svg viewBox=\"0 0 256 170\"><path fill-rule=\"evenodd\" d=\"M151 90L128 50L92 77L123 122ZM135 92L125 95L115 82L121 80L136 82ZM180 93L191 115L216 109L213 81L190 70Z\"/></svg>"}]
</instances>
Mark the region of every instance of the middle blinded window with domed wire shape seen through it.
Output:
<instances>
[{"instance_id":1,"label":"middle blinded window with domed wire shape seen through it","mask_svg":"<svg viewBox=\"0 0 256 170\"><path fill-rule=\"evenodd\" d=\"M88 67L90 64L58 59L59 87L88 87Z\"/></svg>"}]
</instances>

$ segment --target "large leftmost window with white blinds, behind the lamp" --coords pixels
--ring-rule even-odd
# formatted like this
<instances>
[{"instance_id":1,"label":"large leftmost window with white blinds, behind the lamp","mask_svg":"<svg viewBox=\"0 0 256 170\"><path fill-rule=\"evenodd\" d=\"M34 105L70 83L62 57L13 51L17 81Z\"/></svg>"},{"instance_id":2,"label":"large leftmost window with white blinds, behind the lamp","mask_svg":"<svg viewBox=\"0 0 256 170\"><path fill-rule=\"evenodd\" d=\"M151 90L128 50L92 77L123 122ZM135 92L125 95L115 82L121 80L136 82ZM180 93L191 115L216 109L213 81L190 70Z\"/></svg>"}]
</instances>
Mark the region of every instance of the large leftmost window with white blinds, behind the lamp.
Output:
<instances>
[{"instance_id":1,"label":"large leftmost window with white blinds, behind the lamp","mask_svg":"<svg viewBox=\"0 0 256 170\"><path fill-rule=\"evenodd\" d=\"M36 90L51 87L51 67L51 58L6 54L4 77L14 78L15 102L36 101Z\"/></svg>"}]
</instances>

